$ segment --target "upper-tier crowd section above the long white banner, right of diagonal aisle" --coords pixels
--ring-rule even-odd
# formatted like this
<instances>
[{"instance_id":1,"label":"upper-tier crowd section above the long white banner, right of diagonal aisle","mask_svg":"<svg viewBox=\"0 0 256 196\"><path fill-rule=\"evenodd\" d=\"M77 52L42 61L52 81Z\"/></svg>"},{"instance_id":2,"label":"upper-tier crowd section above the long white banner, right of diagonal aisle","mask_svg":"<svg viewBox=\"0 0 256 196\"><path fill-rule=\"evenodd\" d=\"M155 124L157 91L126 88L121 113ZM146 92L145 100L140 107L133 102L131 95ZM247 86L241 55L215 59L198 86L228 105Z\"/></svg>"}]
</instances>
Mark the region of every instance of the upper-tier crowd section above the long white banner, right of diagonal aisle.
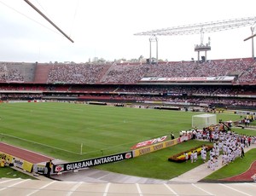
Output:
<instances>
[{"instance_id":1,"label":"upper-tier crowd section above the long white banner, right of diagonal aisle","mask_svg":"<svg viewBox=\"0 0 256 196\"><path fill-rule=\"evenodd\" d=\"M250 58L207 61L201 64L195 61L178 61L158 65L113 65L101 82L134 84L143 77L214 77L234 74L239 76L239 82L252 82L256 79L253 75L256 67L255 62Z\"/></svg>"}]
</instances>

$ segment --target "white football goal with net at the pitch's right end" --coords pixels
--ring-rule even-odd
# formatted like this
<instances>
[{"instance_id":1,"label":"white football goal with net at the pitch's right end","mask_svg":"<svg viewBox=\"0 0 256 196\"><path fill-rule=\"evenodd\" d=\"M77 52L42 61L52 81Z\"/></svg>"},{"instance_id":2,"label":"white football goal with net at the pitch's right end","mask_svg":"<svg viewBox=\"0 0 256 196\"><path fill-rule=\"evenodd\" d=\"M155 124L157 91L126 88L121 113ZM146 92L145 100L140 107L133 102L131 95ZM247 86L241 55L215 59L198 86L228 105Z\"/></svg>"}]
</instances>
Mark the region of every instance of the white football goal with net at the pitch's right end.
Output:
<instances>
[{"instance_id":1,"label":"white football goal with net at the pitch's right end","mask_svg":"<svg viewBox=\"0 0 256 196\"><path fill-rule=\"evenodd\" d=\"M192 127L202 129L212 124L217 124L216 114L199 114L192 116Z\"/></svg>"}]
</instances>

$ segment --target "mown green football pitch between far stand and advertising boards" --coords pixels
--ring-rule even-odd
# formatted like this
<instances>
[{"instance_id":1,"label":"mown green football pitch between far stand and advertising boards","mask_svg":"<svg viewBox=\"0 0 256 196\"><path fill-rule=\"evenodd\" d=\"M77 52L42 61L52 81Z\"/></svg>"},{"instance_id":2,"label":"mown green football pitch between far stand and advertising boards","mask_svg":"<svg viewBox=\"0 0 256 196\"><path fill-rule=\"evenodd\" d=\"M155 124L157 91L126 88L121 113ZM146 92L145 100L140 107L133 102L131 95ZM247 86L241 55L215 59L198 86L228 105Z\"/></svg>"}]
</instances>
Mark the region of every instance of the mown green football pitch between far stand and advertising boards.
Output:
<instances>
[{"instance_id":1,"label":"mown green football pitch between far stand and advertising boards","mask_svg":"<svg viewBox=\"0 0 256 196\"><path fill-rule=\"evenodd\" d=\"M169 137L172 131L178 136L191 129L195 115L55 102L2 104L0 110L3 141L67 160L128 151L139 141Z\"/></svg>"}]
</instances>

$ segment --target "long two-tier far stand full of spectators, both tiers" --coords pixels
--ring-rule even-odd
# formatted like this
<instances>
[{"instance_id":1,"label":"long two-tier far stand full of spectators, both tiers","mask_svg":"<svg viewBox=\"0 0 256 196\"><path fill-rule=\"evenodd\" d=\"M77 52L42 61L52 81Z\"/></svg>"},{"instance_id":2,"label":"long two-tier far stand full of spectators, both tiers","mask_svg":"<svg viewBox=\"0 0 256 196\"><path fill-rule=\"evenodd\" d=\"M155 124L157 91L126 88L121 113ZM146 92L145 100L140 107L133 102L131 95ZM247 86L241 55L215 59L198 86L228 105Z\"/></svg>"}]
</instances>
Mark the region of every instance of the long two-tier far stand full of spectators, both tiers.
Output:
<instances>
[{"instance_id":1,"label":"long two-tier far stand full of spectators, both tiers","mask_svg":"<svg viewBox=\"0 0 256 196\"><path fill-rule=\"evenodd\" d=\"M154 65L0 62L0 97L2 101L158 101L184 106L255 107L255 72L256 60L252 58L160 61ZM229 77L232 79L222 81ZM155 78L175 79L156 83ZM180 78L200 80L182 82Z\"/></svg>"}]
</instances>

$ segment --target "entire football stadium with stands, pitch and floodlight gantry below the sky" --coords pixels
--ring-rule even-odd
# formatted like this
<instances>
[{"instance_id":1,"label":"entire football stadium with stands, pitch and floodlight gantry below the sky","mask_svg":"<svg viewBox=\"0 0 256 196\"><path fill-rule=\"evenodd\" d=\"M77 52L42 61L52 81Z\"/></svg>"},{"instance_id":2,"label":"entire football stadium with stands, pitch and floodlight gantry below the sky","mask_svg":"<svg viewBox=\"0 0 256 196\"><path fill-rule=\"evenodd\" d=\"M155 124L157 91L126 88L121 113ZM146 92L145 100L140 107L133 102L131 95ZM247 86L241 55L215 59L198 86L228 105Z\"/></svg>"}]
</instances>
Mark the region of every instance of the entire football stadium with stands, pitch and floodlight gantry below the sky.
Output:
<instances>
[{"instance_id":1,"label":"entire football stadium with stands, pitch and floodlight gantry below the sky","mask_svg":"<svg viewBox=\"0 0 256 196\"><path fill-rule=\"evenodd\" d=\"M135 33L150 53L132 61L0 60L0 194L254 195L255 24ZM241 26L252 56L207 57L203 33ZM190 34L197 59L158 58L158 37Z\"/></svg>"}]
</instances>

